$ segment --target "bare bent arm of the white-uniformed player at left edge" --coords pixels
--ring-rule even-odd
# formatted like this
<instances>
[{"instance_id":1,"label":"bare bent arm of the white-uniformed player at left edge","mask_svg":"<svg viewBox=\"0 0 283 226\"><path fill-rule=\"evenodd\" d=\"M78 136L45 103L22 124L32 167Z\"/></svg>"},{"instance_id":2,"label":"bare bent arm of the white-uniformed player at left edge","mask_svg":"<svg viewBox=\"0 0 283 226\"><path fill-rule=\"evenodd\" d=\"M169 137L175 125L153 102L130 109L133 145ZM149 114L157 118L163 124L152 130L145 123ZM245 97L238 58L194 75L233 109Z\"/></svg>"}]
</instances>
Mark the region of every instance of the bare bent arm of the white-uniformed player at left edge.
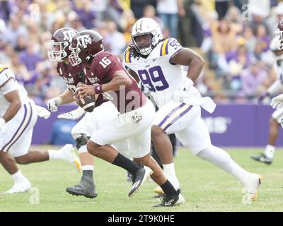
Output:
<instances>
[{"instance_id":1,"label":"bare bent arm of the white-uniformed player at left edge","mask_svg":"<svg viewBox=\"0 0 283 226\"><path fill-rule=\"evenodd\" d=\"M17 114L18 110L21 109L21 98L18 94L18 90L13 90L10 93L4 95L5 99L10 102L8 109L6 110L5 114L2 116L5 123L13 119Z\"/></svg>"}]
</instances>

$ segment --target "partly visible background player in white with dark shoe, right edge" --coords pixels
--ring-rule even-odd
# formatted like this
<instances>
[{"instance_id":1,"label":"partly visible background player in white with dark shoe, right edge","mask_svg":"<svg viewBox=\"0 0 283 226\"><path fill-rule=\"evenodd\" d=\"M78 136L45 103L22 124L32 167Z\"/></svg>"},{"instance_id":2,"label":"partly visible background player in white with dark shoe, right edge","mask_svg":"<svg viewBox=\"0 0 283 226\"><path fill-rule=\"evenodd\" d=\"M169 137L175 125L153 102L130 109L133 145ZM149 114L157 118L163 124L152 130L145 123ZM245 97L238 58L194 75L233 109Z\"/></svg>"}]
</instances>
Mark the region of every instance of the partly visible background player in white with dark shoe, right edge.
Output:
<instances>
[{"instance_id":1,"label":"partly visible background player in white with dark shoe, right edge","mask_svg":"<svg viewBox=\"0 0 283 226\"><path fill-rule=\"evenodd\" d=\"M274 37L270 42L270 50L275 54L275 64L273 68L275 69L275 73L277 74L277 81L275 81L270 88L267 89L265 93L260 95L260 102L265 97L270 97L282 92L283 90L283 49L279 50L277 46L277 37ZM265 153L260 155L253 155L251 158L253 160L264 162L268 165L272 163L274 153L275 153L275 142L279 135L279 127L281 125L281 119L283 117L283 109L277 109L270 118L270 131L268 136L268 145L265 147Z\"/></svg>"}]
</instances>

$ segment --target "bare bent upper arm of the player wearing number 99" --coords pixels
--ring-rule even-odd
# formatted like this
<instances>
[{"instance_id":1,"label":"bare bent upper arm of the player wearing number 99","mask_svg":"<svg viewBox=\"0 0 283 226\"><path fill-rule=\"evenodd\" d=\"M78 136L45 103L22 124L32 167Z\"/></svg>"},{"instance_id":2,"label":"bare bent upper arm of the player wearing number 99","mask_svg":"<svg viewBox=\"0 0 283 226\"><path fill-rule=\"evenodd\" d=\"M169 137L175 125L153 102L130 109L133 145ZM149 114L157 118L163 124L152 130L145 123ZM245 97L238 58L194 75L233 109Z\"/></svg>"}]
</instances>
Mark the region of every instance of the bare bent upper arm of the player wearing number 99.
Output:
<instances>
[{"instance_id":1,"label":"bare bent upper arm of the player wearing number 99","mask_svg":"<svg viewBox=\"0 0 283 226\"><path fill-rule=\"evenodd\" d=\"M178 54L171 58L171 63L189 66L187 78L195 82L202 72L204 59L192 49L182 48Z\"/></svg>"}]
</instances>

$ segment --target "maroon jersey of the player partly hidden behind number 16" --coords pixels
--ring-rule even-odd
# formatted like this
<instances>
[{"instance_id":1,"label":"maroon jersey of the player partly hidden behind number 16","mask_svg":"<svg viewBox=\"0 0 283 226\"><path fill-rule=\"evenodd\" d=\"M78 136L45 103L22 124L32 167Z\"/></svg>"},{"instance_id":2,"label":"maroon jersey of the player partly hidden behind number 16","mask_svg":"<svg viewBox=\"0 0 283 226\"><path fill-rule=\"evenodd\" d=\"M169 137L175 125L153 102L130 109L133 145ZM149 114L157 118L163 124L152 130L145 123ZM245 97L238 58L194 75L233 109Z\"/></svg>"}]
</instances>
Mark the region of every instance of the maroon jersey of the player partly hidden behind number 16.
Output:
<instances>
[{"instance_id":1,"label":"maroon jersey of the player partly hidden behind number 16","mask_svg":"<svg viewBox=\"0 0 283 226\"><path fill-rule=\"evenodd\" d=\"M76 85L78 85L79 82L85 83L86 76L83 73L83 66L71 66L71 64L60 62L57 64L57 72L73 93L75 93Z\"/></svg>"}]
</instances>

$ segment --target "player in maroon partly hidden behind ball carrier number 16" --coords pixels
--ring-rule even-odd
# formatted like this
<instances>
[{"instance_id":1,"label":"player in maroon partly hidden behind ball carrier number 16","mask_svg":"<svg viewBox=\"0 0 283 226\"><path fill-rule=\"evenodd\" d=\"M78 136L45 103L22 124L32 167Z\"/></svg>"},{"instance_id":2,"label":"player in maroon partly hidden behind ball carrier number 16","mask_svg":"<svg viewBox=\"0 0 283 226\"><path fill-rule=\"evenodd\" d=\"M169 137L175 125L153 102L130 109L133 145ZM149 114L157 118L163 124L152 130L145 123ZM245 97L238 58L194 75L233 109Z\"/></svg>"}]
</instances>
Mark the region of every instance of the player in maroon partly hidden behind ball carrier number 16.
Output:
<instances>
[{"instance_id":1,"label":"player in maroon partly hidden behind ball carrier number 16","mask_svg":"<svg viewBox=\"0 0 283 226\"><path fill-rule=\"evenodd\" d=\"M76 35L77 31L72 28L61 28L56 30L52 35L50 45L52 51L48 52L50 61L57 61L57 72L59 76L64 79L67 84L67 89L61 95L48 100L47 105L50 112L57 112L58 105L66 105L74 102L74 92L76 85L79 82L85 82L85 76L83 74L82 66L72 66L69 64L69 44L72 38ZM83 109L76 110L77 118L84 114ZM77 124L79 125L79 123ZM77 126L78 127L78 126ZM76 147L79 150L79 158L81 160L83 175L79 184L68 187L67 192L75 195L83 195L88 198L94 198L96 194L96 186L93 182L93 155L90 155L86 150L86 142L88 137L83 129L76 129L76 126L72 130L72 135L76 141ZM79 131L79 132L77 132Z\"/></svg>"}]
</instances>

